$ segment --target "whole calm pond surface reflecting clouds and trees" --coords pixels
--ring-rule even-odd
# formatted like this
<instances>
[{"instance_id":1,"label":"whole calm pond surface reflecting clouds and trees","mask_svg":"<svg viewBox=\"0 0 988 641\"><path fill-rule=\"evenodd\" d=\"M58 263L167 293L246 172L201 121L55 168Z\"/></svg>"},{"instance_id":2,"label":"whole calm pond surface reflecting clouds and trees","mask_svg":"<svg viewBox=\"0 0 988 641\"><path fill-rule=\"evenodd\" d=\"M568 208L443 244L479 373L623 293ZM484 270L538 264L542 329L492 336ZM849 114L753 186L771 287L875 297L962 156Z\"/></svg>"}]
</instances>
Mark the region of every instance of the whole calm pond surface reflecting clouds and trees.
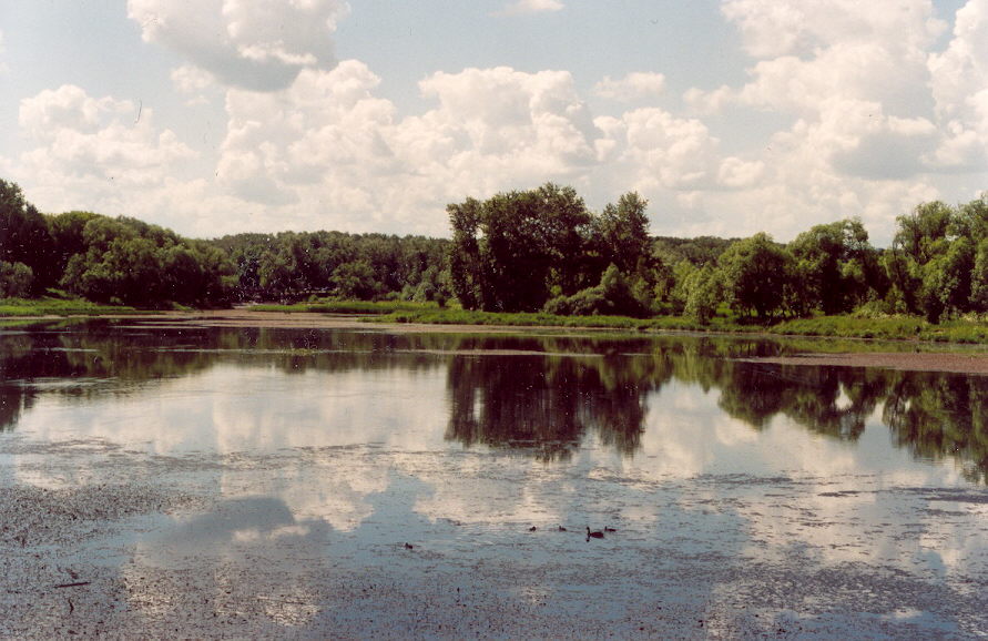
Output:
<instances>
[{"instance_id":1,"label":"whole calm pond surface reflecting clouds and trees","mask_svg":"<svg viewBox=\"0 0 988 641\"><path fill-rule=\"evenodd\" d=\"M988 378L785 349L0 330L0 635L988 635Z\"/></svg>"}]
</instances>

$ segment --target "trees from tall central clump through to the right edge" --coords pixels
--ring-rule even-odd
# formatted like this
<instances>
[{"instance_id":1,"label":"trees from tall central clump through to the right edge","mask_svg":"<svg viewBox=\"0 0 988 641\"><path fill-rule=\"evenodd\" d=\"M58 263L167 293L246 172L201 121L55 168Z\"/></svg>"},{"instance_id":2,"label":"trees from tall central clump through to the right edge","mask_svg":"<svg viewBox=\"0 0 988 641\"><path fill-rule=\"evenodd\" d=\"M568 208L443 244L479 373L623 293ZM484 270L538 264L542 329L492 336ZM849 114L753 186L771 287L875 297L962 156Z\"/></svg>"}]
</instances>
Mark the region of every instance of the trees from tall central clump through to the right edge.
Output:
<instances>
[{"instance_id":1,"label":"trees from tall central clump through to the right edge","mask_svg":"<svg viewBox=\"0 0 988 641\"><path fill-rule=\"evenodd\" d=\"M814 313L988 313L988 192L951 206L921 203L877 248L859 218L815 225L790 243L653 238L648 202L622 195L599 214L548 183L448 205L450 283L488 312L684 314L723 311L767 322Z\"/></svg>"}]
</instances>

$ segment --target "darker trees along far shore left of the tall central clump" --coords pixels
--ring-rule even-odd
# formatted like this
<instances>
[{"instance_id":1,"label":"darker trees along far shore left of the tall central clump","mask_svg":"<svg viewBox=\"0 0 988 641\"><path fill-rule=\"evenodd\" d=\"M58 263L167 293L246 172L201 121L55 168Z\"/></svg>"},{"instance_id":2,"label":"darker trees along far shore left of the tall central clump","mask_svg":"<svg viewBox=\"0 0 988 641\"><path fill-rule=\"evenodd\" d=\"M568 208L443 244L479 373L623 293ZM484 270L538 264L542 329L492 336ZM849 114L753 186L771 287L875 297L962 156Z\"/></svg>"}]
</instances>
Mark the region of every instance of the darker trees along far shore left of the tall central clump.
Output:
<instances>
[{"instance_id":1,"label":"darker trees along far shore left of the tall central clump","mask_svg":"<svg viewBox=\"0 0 988 641\"><path fill-rule=\"evenodd\" d=\"M135 218L38 212L0 180L0 296L201 307L308 296L444 302L448 242L340 232L190 240Z\"/></svg>"}]
</instances>

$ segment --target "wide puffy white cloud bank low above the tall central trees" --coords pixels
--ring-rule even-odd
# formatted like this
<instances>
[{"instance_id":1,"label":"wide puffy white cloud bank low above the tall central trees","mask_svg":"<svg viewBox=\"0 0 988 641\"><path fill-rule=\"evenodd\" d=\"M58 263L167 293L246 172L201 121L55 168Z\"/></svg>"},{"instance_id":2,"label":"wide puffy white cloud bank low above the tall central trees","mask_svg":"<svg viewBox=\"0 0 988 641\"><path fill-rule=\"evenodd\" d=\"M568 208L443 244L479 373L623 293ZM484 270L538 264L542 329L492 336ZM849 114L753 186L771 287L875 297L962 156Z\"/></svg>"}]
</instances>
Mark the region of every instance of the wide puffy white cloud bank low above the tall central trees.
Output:
<instances>
[{"instance_id":1,"label":"wide puffy white cloud bank low above the tall central trees","mask_svg":"<svg viewBox=\"0 0 988 641\"><path fill-rule=\"evenodd\" d=\"M374 94L379 82L349 60L304 70L284 91L231 90L218 180L314 221L345 212L337 224L369 228L387 213L406 231L442 234L447 202L572 180L597 160L600 132L568 72L435 73L420 82L435 106L400 120Z\"/></svg>"}]
</instances>

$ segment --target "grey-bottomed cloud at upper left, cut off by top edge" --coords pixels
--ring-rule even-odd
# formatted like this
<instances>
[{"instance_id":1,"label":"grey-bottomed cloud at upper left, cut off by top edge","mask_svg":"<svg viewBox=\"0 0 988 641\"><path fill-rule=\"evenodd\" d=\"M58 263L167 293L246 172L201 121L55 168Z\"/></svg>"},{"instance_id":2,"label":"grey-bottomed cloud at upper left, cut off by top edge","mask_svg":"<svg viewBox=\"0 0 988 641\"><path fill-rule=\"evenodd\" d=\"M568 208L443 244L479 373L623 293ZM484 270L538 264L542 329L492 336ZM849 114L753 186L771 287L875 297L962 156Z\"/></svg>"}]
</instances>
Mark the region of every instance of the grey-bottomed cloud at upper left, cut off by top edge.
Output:
<instances>
[{"instance_id":1,"label":"grey-bottomed cloud at upper left, cut off by top edge","mask_svg":"<svg viewBox=\"0 0 988 641\"><path fill-rule=\"evenodd\" d=\"M343 0L129 0L128 16L146 42L184 55L226 84L284 89L302 69L335 63L330 35L349 7Z\"/></svg>"}]
</instances>

